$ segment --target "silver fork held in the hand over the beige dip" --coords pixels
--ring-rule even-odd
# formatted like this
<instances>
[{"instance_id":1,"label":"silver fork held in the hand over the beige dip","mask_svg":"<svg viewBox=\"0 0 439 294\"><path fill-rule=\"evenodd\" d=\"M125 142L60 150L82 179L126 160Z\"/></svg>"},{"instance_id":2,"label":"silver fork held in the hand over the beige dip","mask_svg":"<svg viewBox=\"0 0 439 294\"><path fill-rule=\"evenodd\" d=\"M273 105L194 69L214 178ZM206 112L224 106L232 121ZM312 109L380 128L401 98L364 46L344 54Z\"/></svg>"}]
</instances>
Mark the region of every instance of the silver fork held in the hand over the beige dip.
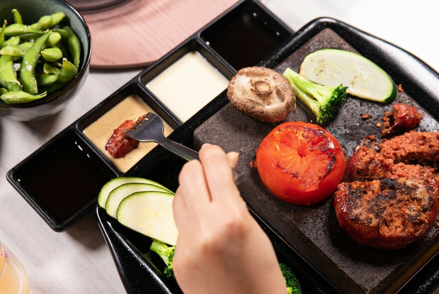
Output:
<instances>
[{"instance_id":1,"label":"silver fork held in the hand over the beige dip","mask_svg":"<svg viewBox=\"0 0 439 294\"><path fill-rule=\"evenodd\" d=\"M162 119L158 115L150 112L128 130L126 134L139 142L158 143L168 151L187 161L200 159L197 151L166 138L163 133L164 128L165 124ZM242 183L244 175L235 168L232 168L232 173L235 184L239 185Z\"/></svg>"}]
</instances>

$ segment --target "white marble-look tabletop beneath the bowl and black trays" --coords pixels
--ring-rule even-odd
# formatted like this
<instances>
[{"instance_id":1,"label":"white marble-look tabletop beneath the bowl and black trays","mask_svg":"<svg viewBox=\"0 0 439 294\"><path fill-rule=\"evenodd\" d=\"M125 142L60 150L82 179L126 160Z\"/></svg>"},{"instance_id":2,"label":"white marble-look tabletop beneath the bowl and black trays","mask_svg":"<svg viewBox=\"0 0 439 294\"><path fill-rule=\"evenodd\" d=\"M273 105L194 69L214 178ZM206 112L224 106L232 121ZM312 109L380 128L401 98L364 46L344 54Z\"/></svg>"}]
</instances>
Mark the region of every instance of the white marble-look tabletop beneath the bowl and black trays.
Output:
<instances>
[{"instance_id":1,"label":"white marble-look tabletop beneath the bowl and black trays","mask_svg":"<svg viewBox=\"0 0 439 294\"><path fill-rule=\"evenodd\" d=\"M439 70L434 0L262 2L294 30L316 17L334 17L399 45ZM65 232L56 233L9 185L5 176L15 164L137 73L139 70L90 72L74 101L60 113L41 121L0 118L0 239L21 260L32 294L125 292L93 211Z\"/></svg>"}]
</instances>

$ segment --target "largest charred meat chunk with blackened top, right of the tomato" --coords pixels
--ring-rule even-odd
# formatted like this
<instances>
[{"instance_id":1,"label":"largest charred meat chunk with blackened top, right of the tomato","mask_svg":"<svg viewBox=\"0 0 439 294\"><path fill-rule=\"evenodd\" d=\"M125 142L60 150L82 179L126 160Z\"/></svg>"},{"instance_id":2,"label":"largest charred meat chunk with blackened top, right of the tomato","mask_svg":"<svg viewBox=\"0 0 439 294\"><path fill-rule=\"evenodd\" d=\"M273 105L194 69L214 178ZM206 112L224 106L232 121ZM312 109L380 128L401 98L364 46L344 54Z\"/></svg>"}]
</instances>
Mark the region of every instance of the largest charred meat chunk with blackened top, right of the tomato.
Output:
<instances>
[{"instance_id":1,"label":"largest charred meat chunk with blackened top, right of the tomato","mask_svg":"<svg viewBox=\"0 0 439 294\"><path fill-rule=\"evenodd\" d=\"M340 226L358 243L399 249L432 228L439 207L438 185L429 177L345 182L333 201Z\"/></svg>"}]
</instances>

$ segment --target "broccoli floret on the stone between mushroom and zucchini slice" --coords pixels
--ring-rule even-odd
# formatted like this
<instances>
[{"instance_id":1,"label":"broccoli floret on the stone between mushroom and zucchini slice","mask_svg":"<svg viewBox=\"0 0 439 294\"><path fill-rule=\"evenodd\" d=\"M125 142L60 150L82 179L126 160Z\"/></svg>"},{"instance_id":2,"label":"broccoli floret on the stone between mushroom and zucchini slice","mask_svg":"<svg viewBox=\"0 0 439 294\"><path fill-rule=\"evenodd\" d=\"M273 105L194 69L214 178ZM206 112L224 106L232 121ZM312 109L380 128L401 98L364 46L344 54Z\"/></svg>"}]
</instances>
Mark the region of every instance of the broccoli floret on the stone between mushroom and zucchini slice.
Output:
<instances>
[{"instance_id":1,"label":"broccoli floret on the stone between mushroom and zucchini slice","mask_svg":"<svg viewBox=\"0 0 439 294\"><path fill-rule=\"evenodd\" d=\"M348 87L318 85L290 68L284 71L283 76L290 83L296 97L314 113L319 125L324 125L332 120L339 108L346 102L346 89Z\"/></svg>"}]
</instances>

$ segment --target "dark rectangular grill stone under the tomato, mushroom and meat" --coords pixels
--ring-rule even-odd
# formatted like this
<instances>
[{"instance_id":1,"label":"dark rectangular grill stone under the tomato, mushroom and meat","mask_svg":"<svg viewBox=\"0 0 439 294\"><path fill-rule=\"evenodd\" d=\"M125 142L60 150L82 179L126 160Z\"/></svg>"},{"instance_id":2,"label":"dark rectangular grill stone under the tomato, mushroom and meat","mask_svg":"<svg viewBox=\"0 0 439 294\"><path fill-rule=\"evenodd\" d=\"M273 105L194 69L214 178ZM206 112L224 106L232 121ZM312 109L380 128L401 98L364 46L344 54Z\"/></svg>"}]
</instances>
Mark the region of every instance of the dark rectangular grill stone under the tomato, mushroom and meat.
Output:
<instances>
[{"instance_id":1,"label":"dark rectangular grill stone under the tomato, mushroom and meat","mask_svg":"<svg viewBox=\"0 0 439 294\"><path fill-rule=\"evenodd\" d=\"M324 29L291 52L275 69L283 72L290 67L298 71L307 54L323 48L356 51L334 31ZM392 78L398 84L398 76ZM419 131L439 131L438 121L406 93L399 92L396 102L414 105L424 114ZM380 132L376 123L391 108L392 105L351 97L337 118L325 128L340 141L345 153L351 155L364 136ZM371 118L363 120L361 115L364 113L370 114ZM284 121L298 120L313 120L311 113L300 102ZM276 125L261 123L227 104L195 131L194 145L217 144L226 151L240 153L237 168L246 174L240 191L248 207L340 292L378 294L398 291L438 251L437 229L405 249L378 250L360 246L339 227L331 199L311 207L279 200L262 184L257 170L251 169L248 164L254 159L261 140Z\"/></svg>"}]
</instances>

